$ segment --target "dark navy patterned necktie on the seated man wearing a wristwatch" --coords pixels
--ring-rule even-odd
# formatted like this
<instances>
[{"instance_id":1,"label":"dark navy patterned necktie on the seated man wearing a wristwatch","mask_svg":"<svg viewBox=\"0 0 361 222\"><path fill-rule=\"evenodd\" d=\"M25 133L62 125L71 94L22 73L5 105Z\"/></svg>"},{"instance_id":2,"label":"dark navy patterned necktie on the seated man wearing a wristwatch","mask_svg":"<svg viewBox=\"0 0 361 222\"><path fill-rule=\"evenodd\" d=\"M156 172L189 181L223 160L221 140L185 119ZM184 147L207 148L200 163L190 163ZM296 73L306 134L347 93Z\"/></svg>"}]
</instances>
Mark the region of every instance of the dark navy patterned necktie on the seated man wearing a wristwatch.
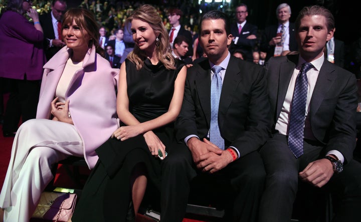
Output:
<instances>
[{"instance_id":1,"label":"dark navy patterned necktie on the seated man wearing a wristwatch","mask_svg":"<svg viewBox=\"0 0 361 222\"><path fill-rule=\"evenodd\" d=\"M288 146L296 156L300 157L303 154L303 131L304 122L306 119L306 101L308 80L306 72L312 68L313 65L309 62L303 63L301 71L299 72L295 89L293 92L291 117L288 131Z\"/></svg>"}]
</instances>

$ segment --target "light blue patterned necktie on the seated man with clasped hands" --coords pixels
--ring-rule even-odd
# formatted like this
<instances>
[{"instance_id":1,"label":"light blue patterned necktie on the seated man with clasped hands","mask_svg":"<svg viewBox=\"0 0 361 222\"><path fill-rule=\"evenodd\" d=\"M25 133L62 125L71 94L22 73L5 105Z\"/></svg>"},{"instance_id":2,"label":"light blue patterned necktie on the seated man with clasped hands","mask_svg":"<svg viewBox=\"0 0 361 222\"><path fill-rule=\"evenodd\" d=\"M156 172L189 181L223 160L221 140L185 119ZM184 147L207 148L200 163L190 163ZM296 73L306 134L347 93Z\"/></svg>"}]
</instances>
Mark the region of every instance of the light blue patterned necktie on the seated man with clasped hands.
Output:
<instances>
[{"instance_id":1,"label":"light blue patterned necktie on the seated man with clasped hands","mask_svg":"<svg viewBox=\"0 0 361 222\"><path fill-rule=\"evenodd\" d=\"M211 128L210 128L210 140L212 143L224 149L224 139L221 136L221 132L218 126L218 107L219 100L222 91L222 79L221 73L222 67L215 65L212 67L214 72L211 83Z\"/></svg>"}]
</instances>

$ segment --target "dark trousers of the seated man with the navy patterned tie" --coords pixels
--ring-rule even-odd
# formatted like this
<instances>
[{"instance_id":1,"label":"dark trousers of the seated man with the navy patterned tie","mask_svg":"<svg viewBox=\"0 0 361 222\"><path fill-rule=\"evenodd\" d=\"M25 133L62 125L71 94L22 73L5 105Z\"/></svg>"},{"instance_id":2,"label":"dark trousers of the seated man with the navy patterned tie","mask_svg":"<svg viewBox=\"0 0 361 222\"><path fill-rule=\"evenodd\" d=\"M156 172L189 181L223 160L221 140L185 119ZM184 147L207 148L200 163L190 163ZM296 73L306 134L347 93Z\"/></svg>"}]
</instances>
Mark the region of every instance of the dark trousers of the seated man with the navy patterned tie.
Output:
<instances>
[{"instance_id":1,"label":"dark trousers of the seated man with the navy patterned tie","mask_svg":"<svg viewBox=\"0 0 361 222\"><path fill-rule=\"evenodd\" d=\"M287 137L274 134L261 148L267 177L260 205L260 221L289 222L299 186L298 172L309 162L322 158L323 147L304 140L304 154L295 158L287 144ZM302 182L303 183L303 182ZM303 184L302 184L303 185ZM361 209L361 164L351 160L343 171L333 174L319 192L331 193L335 202L335 221L359 221ZM316 190L317 190L316 189Z\"/></svg>"}]
</instances>

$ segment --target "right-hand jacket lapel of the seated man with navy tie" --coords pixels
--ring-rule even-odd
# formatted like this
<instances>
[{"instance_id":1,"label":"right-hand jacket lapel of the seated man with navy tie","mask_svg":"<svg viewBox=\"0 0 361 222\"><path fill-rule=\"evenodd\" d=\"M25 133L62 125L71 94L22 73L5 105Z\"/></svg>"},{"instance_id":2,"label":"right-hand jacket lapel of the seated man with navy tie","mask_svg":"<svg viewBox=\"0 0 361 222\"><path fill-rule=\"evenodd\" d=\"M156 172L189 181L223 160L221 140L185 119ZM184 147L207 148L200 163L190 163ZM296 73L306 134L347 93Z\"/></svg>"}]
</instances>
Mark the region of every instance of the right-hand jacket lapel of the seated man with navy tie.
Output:
<instances>
[{"instance_id":1,"label":"right-hand jacket lapel of the seated man with navy tie","mask_svg":"<svg viewBox=\"0 0 361 222\"><path fill-rule=\"evenodd\" d=\"M333 73L334 69L329 64L330 63L327 60L324 60L318 73L317 81L310 100L311 115L312 113L316 113L318 107L324 99L324 96L327 94L336 78L336 74Z\"/></svg>"}]
</instances>

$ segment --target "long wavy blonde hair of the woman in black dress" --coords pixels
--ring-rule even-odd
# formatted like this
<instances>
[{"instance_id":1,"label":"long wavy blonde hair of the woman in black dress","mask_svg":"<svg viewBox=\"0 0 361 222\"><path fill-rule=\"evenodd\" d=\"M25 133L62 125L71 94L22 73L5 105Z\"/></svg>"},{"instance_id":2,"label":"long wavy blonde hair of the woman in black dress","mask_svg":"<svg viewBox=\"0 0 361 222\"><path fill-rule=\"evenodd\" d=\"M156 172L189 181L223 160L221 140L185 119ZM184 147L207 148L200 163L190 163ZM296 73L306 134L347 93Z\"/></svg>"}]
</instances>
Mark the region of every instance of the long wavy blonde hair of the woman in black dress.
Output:
<instances>
[{"instance_id":1,"label":"long wavy blonde hair of the woman in black dress","mask_svg":"<svg viewBox=\"0 0 361 222\"><path fill-rule=\"evenodd\" d=\"M125 26L130 27L130 25L127 24L131 22L133 19L138 19L147 22L155 33L159 33L158 35L159 46L155 47L156 56L160 60L160 62L163 63L166 69L175 69L174 57L170 52L169 35L163 25L162 19L160 18L159 14L156 12L156 9L150 4L144 4L139 6L126 19ZM130 52L127 56L127 58L136 65L137 70L143 67L144 59L146 57L147 57L146 54L142 50L140 50L140 48L136 44L134 45L133 51Z\"/></svg>"}]
</instances>

